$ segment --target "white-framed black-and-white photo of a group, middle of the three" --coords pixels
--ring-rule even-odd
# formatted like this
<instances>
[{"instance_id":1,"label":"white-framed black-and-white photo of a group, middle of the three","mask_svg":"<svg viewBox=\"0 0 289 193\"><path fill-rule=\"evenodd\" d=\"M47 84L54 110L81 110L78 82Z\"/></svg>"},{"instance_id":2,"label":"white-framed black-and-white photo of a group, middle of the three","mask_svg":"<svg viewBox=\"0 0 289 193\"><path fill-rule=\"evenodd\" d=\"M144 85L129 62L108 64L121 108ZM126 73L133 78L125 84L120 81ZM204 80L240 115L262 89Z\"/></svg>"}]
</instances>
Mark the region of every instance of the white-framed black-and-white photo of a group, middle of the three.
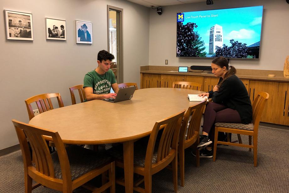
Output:
<instances>
[{"instance_id":1,"label":"white-framed black-and-white photo of a group, middle of the three","mask_svg":"<svg viewBox=\"0 0 289 193\"><path fill-rule=\"evenodd\" d=\"M66 21L45 18L46 40L66 40Z\"/></svg>"}]
</instances>

